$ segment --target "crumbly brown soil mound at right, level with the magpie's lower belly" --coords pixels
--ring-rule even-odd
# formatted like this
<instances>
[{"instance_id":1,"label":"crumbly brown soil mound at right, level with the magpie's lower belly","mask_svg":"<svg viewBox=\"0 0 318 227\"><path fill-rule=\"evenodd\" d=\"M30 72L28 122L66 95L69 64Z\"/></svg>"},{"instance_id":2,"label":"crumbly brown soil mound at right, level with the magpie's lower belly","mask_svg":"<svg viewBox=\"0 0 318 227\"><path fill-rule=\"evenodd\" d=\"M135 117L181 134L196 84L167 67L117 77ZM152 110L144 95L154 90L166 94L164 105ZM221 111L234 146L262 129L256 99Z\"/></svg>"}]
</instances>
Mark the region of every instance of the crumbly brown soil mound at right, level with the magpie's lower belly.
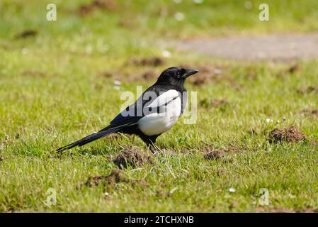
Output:
<instances>
[{"instance_id":1,"label":"crumbly brown soil mound at right, level with the magpie's lower belly","mask_svg":"<svg viewBox=\"0 0 318 227\"><path fill-rule=\"evenodd\" d=\"M298 128L294 126L289 128L275 128L271 133L269 133L268 141L270 143L279 143L279 142L291 142L298 143L302 140L305 140L306 137Z\"/></svg>"}]
</instances>

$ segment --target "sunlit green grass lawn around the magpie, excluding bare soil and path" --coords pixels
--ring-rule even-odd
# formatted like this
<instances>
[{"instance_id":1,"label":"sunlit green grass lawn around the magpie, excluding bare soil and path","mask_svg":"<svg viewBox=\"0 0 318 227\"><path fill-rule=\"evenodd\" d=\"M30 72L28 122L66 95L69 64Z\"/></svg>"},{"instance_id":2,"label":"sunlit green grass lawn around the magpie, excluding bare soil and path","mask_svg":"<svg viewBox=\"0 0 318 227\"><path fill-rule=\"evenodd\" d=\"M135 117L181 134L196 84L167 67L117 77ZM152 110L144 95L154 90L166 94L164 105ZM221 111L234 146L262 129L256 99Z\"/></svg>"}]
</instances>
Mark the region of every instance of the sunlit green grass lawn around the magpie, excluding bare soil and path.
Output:
<instances>
[{"instance_id":1,"label":"sunlit green grass lawn around the magpie, excluding bare soil and path","mask_svg":"<svg viewBox=\"0 0 318 227\"><path fill-rule=\"evenodd\" d=\"M300 61L299 70L289 73L288 64L232 62L170 49L171 58L154 67L157 72L181 63L194 68L218 65L240 88L227 82L202 87L187 82L189 91L198 92L198 101L227 99L229 105L199 106L194 125L183 124L181 118L161 135L159 147L174 154L158 155L153 164L128 167L123 170L127 182L107 189L79 186L88 177L117 169L111 160L120 146L146 150L139 138L104 138L64 155L54 151L106 126L120 111L121 92L135 92L137 85L145 89L154 82L130 81L129 74L140 75L150 67L126 64L132 57L160 56L163 49L153 45L154 40L317 31L317 1L268 1L271 21L266 23L257 19L259 1L252 1L250 11L242 1L200 5L118 1L115 11L96 10L85 17L75 12L89 1L56 2L57 21L52 23L45 20L45 1L0 4L0 211L254 212L261 207L261 188L268 189L270 196L265 209L317 209L318 148L310 141L318 140L318 121L302 111L318 109L318 99L317 94L296 90L318 87L318 60ZM161 11L166 16L160 18ZM174 19L177 11L185 13L184 21ZM132 27L120 26L123 20ZM38 36L14 38L26 29L38 31ZM120 90L113 89L113 79L101 72L122 72ZM257 77L248 79L250 72ZM273 123L266 123L266 118ZM286 126L297 126L307 140L268 143L266 133ZM251 135L251 128L266 133ZM206 146L245 151L205 160ZM136 183L137 179L147 185ZM57 192L57 206L45 202L50 187Z\"/></svg>"}]
</instances>

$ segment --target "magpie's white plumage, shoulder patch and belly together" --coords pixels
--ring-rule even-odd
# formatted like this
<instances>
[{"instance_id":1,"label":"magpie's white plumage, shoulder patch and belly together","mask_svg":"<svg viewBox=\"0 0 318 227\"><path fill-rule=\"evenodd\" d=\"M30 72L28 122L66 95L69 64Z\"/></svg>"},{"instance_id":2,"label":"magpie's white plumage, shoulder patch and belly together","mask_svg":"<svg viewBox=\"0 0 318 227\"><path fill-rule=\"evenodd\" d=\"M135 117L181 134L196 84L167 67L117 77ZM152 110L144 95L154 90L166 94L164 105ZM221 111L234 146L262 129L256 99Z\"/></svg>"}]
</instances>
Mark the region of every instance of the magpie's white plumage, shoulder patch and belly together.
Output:
<instances>
[{"instance_id":1,"label":"magpie's white plumage, shoulder patch and belly together","mask_svg":"<svg viewBox=\"0 0 318 227\"><path fill-rule=\"evenodd\" d=\"M147 107L157 106L162 106L163 111L149 114L138 121L138 127L145 135L159 135L174 126L181 115L181 96L176 90L169 90Z\"/></svg>"}]
</instances>

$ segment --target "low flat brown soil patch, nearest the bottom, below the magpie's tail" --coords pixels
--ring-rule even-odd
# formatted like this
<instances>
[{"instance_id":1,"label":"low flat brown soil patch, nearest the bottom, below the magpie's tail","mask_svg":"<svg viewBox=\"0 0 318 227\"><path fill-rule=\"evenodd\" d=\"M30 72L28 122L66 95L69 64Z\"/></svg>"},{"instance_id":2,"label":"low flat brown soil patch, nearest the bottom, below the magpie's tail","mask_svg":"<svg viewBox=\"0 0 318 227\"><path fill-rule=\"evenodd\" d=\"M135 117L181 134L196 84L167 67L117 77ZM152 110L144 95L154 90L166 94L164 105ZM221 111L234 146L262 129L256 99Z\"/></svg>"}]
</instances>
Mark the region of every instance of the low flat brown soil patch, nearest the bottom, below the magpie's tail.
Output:
<instances>
[{"instance_id":1,"label":"low flat brown soil patch, nearest the bottom, below the magpie's tail","mask_svg":"<svg viewBox=\"0 0 318 227\"><path fill-rule=\"evenodd\" d=\"M98 184L107 184L108 186L113 187L119 182L125 182L122 172L119 170L112 170L108 176L89 177L84 185L88 187L95 187Z\"/></svg>"}]
</instances>

